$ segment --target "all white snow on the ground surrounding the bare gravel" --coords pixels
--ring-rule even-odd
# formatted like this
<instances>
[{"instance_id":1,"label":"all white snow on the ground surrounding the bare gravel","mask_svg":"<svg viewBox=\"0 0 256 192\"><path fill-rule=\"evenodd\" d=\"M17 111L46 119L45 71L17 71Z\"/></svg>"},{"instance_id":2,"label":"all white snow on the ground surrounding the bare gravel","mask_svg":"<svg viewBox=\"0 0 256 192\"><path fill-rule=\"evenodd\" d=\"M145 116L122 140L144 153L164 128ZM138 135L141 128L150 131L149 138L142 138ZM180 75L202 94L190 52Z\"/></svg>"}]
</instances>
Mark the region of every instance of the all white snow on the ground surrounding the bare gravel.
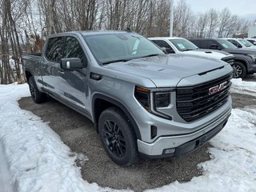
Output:
<instances>
[{"instance_id":1,"label":"all white snow on the ground surrounding the bare gravel","mask_svg":"<svg viewBox=\"0 0 256 192\"><path fill-rule=\"evenodd\" d=\"M232 82L235 89L256 94L256 82ZM0 86L0 186L4 182L8 192L120 191L82 180L75 154L58 134L18 107L17 100L29 95L27 85ZM210 141L212 159L198 165L202 176L146 191L256 191L255 126L256 109L232 110L226 127Z\"/></svg>"}]
</instances>

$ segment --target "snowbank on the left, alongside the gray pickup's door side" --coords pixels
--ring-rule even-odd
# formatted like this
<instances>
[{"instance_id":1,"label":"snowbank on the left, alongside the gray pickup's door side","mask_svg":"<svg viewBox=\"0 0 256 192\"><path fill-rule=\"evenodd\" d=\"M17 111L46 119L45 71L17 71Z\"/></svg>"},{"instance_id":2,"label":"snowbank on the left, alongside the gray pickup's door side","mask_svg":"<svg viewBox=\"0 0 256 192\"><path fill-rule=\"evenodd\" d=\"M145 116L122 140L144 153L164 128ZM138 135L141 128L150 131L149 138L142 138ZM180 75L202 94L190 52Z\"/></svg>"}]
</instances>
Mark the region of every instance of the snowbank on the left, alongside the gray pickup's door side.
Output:
<instances>
[{"instance_id":1,"label":"snowbank on the left, alongside the gray pickup's door side","mask_svg":"<svg viewBox=\"0 0 256 192\"><path fill-rule=\"evenodd\" d=\"M25 84L0 86L0 141L14 191L113 191L85 182L75 166L75 154L58 134L18 107L17 100L29 95Z\"/></svg>"}]
</instances>

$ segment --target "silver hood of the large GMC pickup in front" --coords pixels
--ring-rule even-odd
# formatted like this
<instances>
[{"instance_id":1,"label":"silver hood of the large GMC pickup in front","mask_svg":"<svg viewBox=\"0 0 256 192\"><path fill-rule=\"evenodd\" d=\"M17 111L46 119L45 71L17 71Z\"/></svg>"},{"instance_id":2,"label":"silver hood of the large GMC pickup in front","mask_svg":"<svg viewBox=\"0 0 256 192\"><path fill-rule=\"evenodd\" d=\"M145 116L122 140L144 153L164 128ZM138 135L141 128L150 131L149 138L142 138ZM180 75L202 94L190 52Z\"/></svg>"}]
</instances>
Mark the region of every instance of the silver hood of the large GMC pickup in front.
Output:
<instances>
[{"instance_id":1,"label":"silver hood of the large GMC pickup in front","mask_svg":"<svg viewBox=\"0 0 256 192\"><path fill-rule=\"evenodd\" d=\"M114 62L104 66L110 70L148 78L157 87L177 86L182 78L205 74L228 65L215 59L206 59L185 54L159 55L133 59L128 62Z\"/></svg>"}]
</instances>

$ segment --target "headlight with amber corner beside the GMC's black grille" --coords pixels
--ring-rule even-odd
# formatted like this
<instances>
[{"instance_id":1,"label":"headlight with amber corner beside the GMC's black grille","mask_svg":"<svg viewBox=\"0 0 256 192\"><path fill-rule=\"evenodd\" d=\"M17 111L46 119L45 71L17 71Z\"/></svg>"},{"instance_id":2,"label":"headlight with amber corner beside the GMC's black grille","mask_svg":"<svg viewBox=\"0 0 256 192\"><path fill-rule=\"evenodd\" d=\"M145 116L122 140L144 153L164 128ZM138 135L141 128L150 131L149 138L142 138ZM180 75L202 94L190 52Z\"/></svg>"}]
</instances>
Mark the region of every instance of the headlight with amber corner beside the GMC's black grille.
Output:
<instances>
[{"instance_id":1,"label":"headlight with amber corner beside the GMC's black grille","mask_svg":"<svg viewBox=\"0 0 256 192\"><path fill-rule=\"evenodd\" d=\"M167 117L158 111L159 108L170 106L171 89L148 89L142 86L135 86L134 96L138 102L151 114L156 114L162 118Z\"/></svg>"}]
</instances>

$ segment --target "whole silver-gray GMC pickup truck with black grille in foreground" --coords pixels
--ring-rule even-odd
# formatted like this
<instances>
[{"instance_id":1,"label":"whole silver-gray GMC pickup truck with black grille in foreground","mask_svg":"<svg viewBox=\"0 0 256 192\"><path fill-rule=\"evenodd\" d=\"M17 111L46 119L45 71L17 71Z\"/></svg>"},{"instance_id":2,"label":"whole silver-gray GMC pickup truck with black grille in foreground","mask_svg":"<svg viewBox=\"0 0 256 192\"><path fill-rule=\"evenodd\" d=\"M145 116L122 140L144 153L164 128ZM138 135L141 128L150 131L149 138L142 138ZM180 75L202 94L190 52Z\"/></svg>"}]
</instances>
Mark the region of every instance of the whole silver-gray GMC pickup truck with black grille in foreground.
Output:
<instances>
[{"instance_id":1,"label":"whole silver-gray GMC pickup truck with black grille in foreground","mask_svg":"<svg viewBox=\"0 0 256 192\"><path fill-rule=\"evenodd\" d=\"M187 154L230 116L228 63L166 55L130 31L54 34L22 62L34 102L49 94L90 118L118 165Z\"/></svg>"}]
</instances>

